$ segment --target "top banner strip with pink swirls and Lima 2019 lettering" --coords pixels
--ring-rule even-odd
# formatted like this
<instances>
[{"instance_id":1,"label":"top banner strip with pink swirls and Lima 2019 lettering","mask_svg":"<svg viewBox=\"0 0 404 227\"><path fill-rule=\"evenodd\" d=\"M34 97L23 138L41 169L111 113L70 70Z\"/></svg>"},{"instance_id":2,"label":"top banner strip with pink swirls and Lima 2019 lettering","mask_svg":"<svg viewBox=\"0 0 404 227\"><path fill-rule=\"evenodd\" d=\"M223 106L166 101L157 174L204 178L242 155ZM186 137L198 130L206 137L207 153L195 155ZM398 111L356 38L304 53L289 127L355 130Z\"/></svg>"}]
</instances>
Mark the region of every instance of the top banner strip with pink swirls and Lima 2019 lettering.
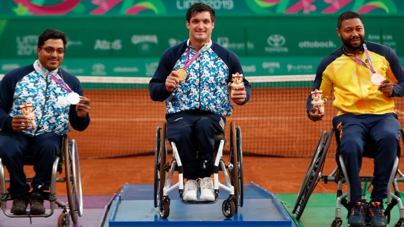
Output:
<instances>
[{"instance_id":1,"label":"top banner strip with pink swirls and Lima 2019 lettering","mask_svg":"<svg viewBox=\"0 0 404 227\"><path fill-rule=\"evenodd\" d=\"M184 16L195 2L210 5L217 15L321 15L355 11L372 15L404 15L401 0L9 0L0 14L32 16Z\"/></svg>"}]
</instances>

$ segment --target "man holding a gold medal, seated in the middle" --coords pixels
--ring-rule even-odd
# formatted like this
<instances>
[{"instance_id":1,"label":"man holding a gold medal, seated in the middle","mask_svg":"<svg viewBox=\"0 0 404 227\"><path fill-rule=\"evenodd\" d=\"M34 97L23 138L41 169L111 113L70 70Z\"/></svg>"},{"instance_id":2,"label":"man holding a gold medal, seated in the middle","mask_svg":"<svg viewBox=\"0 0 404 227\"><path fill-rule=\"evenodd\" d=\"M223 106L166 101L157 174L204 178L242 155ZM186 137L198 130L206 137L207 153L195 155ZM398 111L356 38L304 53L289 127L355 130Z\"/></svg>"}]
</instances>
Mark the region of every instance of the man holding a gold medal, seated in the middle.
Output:
<instances>
[{"instance_id":1,"label":"man holding a gold medal, seated in the middle","mask_svg":"<svg viewBox=\"0 0 404 227\"><path fill-rule=\"evenodd\" d=\"M242 76L242 68L236 54L211 40L215 19L210 6L193 4L186 13L189 39L163 53L149 83L151 99L166 101L167 139L176 143L184 166L187 201L196 200L199 184L200 198L215 200L210 178L214 136L224 131L225 117L233 111L230 99L243 105L251 93L243 77L229 98L231 75Z\"/></svg>"}]
</instances>

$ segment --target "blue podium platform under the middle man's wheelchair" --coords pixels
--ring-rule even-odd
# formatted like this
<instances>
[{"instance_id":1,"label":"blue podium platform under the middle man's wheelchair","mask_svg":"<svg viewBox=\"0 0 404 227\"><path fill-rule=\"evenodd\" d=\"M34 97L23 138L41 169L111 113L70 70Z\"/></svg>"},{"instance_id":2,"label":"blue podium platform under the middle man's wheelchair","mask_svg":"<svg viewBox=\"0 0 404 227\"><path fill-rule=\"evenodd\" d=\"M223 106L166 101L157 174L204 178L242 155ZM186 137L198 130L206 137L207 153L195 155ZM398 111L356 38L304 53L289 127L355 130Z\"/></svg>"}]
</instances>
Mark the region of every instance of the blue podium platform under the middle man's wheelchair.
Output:
<instances>
[{"instance_id":1,"label":"blue podium platform under the middle man's wheelchair","mask_svg":"<svg viewBox=\"0 0 404 227\"><path fill-rule=\"evenodd\" d=\"M183 204L177 190L169 194L170 215L161 218L154 207L153 185L125 184L111 203L104 226L296 226L270 192L255 183L244 184L244 204L232 218L222 214L228 194L214 204Z\"/></svg>"}]
</instances>

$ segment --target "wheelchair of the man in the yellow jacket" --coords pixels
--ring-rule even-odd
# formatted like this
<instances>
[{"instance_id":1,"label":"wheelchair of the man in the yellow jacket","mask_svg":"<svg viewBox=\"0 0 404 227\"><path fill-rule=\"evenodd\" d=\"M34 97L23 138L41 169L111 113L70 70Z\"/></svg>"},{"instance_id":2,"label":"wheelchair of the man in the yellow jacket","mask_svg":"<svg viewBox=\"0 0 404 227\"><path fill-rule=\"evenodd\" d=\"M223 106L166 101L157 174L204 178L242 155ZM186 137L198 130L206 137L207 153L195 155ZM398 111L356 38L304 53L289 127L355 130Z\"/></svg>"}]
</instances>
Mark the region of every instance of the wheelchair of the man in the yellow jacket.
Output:
<instances>
[{"instance_id":1,"label":"wheelchair of the man in the yellow jacket","mask_svg":"<svg viewBox=\"0 0 404 227\"><path fill-rule=\"evenodd\" d=\"M346 177L347 172L341 154L338 154L338 156L336 157L337 166L334 168L332 173L328 176L323 175L325 157L327 155L327 150L330 145L333 133L334 133L333 129L331 129L328 133L324 131L319 140L314 156L309 164L308 171L300 187L299 193L297 194L296 202L293 207L292 213L296 214L295 217L296 220L300 219L309 201L311 194L313 193L316 185L320 181L324 182L325 184L327 184L328 182L337 183L337 203L335 207L335 219L331 223L331 227L339 227L342 224L341 205L343 205L346 209L349 209L350 185ZM403 135L404 131L401 129L401 139L404 141L404 138L402 137ZM374 155L376 153L375 148L376 146L374 141L368 138L365 145L365 151L362 156L374 158ZM387 201L386 201L387 207L384 211L384 215L387 217L387 220L390 223L390 211L395 205L398 205L399 219L397 223L395 223L394 225L395 227L404 226L404 206L402 205L400 192L397 186L397 182L404 182L404 175L398 169L399 156L400 156L400 149L397 149L397 157L394 160L392 172L390 174L388 182ZM363 182L362 202L367 203L367 194L372 186L373 177L361 176L360 179L361 182ZM342 192L343 183L346 183L347 192ZM391 190L391 188L393 188L393 191Z\"/></svg>"}]
</instances>

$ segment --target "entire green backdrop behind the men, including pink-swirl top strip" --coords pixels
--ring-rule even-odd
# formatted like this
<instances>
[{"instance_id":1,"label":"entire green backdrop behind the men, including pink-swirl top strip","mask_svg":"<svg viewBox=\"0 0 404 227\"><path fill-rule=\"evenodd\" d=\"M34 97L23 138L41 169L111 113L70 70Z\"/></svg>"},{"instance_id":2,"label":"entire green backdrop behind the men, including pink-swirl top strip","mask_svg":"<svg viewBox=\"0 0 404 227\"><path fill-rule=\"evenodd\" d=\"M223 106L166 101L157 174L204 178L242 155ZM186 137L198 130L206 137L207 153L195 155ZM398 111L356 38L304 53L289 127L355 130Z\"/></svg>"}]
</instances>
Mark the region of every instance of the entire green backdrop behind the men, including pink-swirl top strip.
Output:
<instances>
[{"instance_id":1,"label":"entire green backdrop behind the men, including pink-swirl top strip","mask_svg":"<svg viewBox=\"0 0 404 227\"><path fill-rule=\"evenodd\" d=\"M195 0L7 0L0 3L0 74L36 59L41 31L69 38L63 68L81 76L150 77L163 51L188 37ZM362 15L366 40L404 58L402 0L199 0L217 21L212 39L239 56L248 76L314 74L341 45L336 20Z\"/></svg>"}]
</instances>

